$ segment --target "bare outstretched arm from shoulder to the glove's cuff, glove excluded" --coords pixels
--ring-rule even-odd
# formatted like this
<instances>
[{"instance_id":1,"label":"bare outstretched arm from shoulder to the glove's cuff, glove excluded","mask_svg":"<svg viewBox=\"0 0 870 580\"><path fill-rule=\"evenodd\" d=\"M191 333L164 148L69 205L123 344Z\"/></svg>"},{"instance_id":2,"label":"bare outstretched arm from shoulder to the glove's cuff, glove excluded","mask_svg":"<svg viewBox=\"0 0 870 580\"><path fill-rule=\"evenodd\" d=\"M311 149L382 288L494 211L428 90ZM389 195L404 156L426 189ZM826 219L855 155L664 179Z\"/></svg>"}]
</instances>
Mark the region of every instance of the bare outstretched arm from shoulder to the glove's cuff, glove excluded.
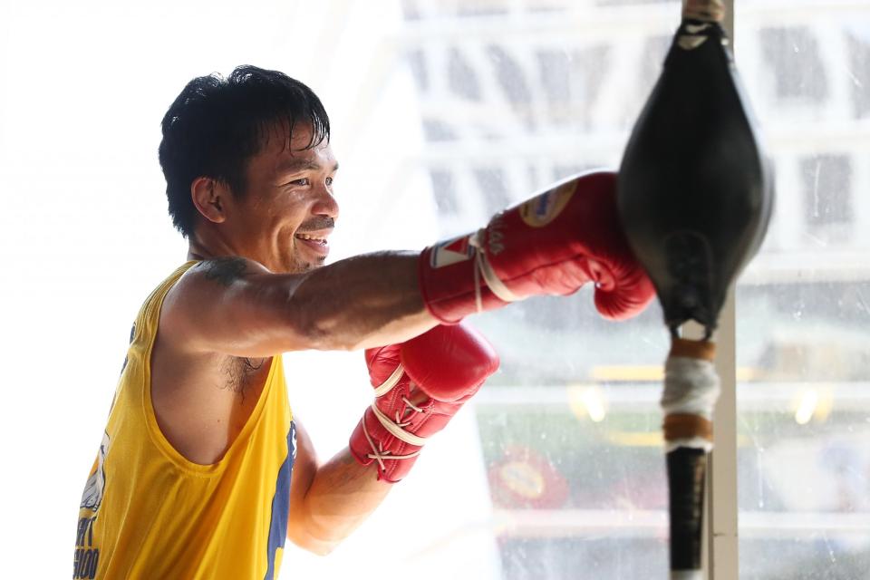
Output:
<instances>
[{"instance_id":1,"label":"bare outstretched arm from shoulder to the glove's cuff, glove excluded","mask_svg":"<svg viewBox=\"0 0 870 580\"><path fill-rule=\"evenodd\" d=\"M160 332L188 352L247 357L402 342L437 324L418 260L382 252L293 275L237 256L206 260L167 295Z\"/></svg>"}]
</instances>

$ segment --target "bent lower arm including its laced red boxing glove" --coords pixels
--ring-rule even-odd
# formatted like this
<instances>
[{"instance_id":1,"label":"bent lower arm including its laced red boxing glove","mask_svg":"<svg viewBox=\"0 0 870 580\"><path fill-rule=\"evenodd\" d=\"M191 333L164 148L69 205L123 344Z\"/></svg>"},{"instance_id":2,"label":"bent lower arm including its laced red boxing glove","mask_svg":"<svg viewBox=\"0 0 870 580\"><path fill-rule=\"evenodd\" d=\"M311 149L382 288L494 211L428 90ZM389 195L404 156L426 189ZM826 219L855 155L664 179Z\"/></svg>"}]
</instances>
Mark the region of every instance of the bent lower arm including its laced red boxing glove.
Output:
<instances>
[{"instance_id":1,"label":"bent lower arm including its laced red boxing glove","mask_svg":"<svg viewBox=\"0 0 870 580\"><path fill-rule=\"evenodd\" d=\"M305 452L294 473L304 497L295 504L291 499L289 536L316 554L329 553L369 517L407 475L426 440L498 369L492 346L467 324L440 325L408 343L371 349L366 362L379 394L349 447L320 467L313 452ZM312 449L302 429L298 442Z\"/></svg>"}]
</instances>

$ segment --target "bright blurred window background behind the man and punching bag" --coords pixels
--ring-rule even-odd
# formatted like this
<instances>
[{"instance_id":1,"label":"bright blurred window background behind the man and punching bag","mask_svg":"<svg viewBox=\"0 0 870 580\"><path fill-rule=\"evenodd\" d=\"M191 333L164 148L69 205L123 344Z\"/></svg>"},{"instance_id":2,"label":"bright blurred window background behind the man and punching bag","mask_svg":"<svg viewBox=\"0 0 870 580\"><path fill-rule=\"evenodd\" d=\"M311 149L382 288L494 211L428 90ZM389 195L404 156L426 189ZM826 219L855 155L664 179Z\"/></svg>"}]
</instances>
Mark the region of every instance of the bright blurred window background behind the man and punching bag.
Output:
<instances>
[{"instance_id":1,"label":"bright blurred window background behind the man and punching bag","mask_svg":"<svg viewBox=\"0 0 870 580\"><path fill-rule=\"evenodd\" d=\"M0 5L0 405L10 576L68 575L131 319L185 256L160 119L252 63L333 121L331 261L420 249L556 179L615 168L680 2L203 0ZM737 0L737 63L778 183L737 291L739 571L870 566L870 0ZM473 319L502 367L332 556L282 577L663 577L667 336L591 292ZM371 387L361 353L285 355L324 459ZM716 499L714 498L714 501Z\"/></svg>"}]
</instances>

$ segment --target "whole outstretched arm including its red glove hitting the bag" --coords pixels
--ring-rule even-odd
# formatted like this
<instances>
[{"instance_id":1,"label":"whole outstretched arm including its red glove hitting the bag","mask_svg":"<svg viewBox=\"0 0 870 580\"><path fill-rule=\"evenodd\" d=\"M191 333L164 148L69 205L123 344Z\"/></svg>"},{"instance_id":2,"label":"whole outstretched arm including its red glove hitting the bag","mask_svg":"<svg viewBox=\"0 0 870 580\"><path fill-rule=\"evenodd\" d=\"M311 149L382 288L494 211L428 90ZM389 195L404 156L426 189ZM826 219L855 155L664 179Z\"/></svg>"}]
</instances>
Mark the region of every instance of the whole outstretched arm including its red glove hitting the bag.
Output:
<instances>
[{"instance_id":1,"label":"whole outstretched arm including its red glove hitting the bag","mask_svg":"<svg viewBox=\"0 0 870 580\"><path fill-rule=\"evenodd\" d=\"M654 292L623 235L615 183L607 172L568 179L421 255L368 254L294 275L240 257L207 260L169 292L161 329L189 352L353 350L590 281L602 314L629 317Z\"/></svg>"}]
</instances>

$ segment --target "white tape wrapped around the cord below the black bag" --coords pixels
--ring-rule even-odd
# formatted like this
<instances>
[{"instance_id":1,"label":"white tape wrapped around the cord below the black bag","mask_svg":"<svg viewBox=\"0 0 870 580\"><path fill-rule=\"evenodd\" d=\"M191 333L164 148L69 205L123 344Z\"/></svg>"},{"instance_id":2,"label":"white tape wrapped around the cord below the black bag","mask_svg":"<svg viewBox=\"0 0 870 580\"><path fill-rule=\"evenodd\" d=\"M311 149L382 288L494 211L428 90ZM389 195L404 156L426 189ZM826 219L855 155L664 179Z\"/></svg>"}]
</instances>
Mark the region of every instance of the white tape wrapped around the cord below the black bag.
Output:
<instances>
[{"instance_id":1,"label":"white tape wrapped around the cord below the black bag","mask_svg":"<svg viewBox=\"0 0 870 580\"><path fill-rule=\"evenodd\" d=\"M713 363L685 356L669 356L664 365L662 410L673 414L698 415L713 419L721 392L719 375ZM702 437L665 441L668 452L679 447L710 451L712 442Z\"/></svg>"}]
</instances>

